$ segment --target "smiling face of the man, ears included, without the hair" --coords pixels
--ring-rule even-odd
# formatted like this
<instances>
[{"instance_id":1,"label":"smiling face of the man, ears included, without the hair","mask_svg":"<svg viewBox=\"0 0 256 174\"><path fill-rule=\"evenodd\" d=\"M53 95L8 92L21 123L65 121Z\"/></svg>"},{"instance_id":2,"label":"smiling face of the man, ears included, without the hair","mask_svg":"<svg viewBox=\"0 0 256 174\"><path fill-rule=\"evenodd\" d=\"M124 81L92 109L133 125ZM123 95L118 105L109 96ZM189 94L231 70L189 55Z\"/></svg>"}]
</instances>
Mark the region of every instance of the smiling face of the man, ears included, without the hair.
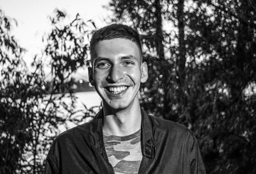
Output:
<instances>
[{"instance_id":1,"label":"smiling face of the man, ears included, without the hair","mask_svg":"<svg viewBox=\"0 0 256 174\"><path fill-rule=\"evenodd\" d=\"M95 86L104 106L125 109L138 102L140 83L147 81L147 63L141 63L138 45L115 38L95 45L89 68L90 83Z\"/></svg>"}]
</instances>

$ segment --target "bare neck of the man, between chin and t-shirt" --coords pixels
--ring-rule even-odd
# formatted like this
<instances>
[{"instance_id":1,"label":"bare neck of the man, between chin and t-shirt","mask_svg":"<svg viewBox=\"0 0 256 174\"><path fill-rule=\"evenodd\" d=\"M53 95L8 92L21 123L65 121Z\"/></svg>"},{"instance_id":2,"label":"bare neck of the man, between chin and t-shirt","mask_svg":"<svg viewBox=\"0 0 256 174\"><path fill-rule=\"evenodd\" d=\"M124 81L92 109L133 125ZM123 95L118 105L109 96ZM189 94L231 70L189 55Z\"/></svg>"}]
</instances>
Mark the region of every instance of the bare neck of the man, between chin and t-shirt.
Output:
<instances>
[{"instance_id":1,"label":"bare neck of the man, between chin and t-shirt","mask_svg":"<svg viewBox=\"0 0 256 174\"><path fill-rule=\"evenodd\" d=\"M127 136L138 130L141 127L141 110L140 103L135 102L125 109L109 109L103 107L104 134L115 136Z\"/></svg>"}]
</instances>

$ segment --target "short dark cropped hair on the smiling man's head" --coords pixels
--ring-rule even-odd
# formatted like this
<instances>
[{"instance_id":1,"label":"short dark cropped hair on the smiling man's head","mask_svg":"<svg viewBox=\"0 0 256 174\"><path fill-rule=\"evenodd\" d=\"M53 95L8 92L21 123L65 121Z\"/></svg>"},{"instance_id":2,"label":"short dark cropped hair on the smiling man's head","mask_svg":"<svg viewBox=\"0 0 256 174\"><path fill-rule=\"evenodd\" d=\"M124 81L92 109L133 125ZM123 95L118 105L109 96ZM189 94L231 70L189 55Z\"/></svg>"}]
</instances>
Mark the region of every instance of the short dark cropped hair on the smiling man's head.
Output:
<instances>
[{"instance_id":1,"label":"short dark cropped hair on the smiling man's head","mask_svg":"<svg viewBox=\"0 0 256 174\"><path fill-rule=\"evenodd\" d=\"M90 41L91 57L93 58L93 52L97 42L102 40L111 40L113 38L125 38L131 40L132 42L135 42L140 49L140 55L142 54L140 35L138 31L123 24L111 24L104 28L100 28L97 31L95 31L95 33L93 33L92 39Z\"/></svg>"}]
</instances>

